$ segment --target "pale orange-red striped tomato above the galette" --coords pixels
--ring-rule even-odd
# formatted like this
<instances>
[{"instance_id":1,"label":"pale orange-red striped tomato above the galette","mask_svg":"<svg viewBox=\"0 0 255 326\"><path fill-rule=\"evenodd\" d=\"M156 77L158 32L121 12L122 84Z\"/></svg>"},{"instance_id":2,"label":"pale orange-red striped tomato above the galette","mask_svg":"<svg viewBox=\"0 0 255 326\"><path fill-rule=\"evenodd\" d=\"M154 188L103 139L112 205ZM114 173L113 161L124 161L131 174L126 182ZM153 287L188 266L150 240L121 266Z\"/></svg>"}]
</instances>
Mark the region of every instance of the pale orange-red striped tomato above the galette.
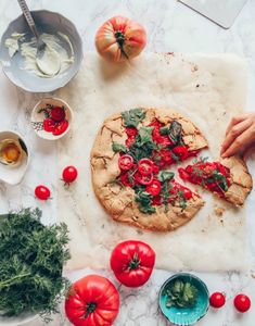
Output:
<instances>
[{"instance_id":1,"label":"pale orange-red striped tomato above the galette","mask_svg":"<svg viewBox=\"0 0 255 326\"><path fill-rule=\"evenodd\" d=\"M137 57L146 45L144 28L123 16L106 21L95 35L98 52L110 61L122 62Z\"/></svg>"}]
</instances>

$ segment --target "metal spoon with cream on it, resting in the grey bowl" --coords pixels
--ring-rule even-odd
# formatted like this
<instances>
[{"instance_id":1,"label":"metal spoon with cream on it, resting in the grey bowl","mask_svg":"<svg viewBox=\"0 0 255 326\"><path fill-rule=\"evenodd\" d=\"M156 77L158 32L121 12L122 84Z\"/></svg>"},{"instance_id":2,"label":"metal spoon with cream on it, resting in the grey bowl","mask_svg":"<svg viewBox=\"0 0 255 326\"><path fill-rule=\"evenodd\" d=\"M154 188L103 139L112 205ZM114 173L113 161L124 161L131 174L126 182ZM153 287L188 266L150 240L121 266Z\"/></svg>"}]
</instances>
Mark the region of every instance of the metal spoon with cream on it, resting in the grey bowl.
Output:
<instances>
[{"instance_id":1,"label":"metal spoon with cream on it, resting in the grey bowl","mask_svg":"<svg viewBox=\"0 0 255 326\"><path fill-rule=\"evenodd\" d=\"M22 12L24 14L24 17L26 18L28 26L30 27L37 40L36 63L39 70L46 75L56 75L61 68L59 53L54 49L49 49L50 51L47 51L49 47L47 47L47 43L42 40L41 36L39 35L26 1L17 0L17 2L22 9ZM50 59L51 61L53 61L53 65L51 64L50 68L47 67L47 62L43 60L43 57L49 55L49 52L51 57Z\"/></svg>"}]
</instances>

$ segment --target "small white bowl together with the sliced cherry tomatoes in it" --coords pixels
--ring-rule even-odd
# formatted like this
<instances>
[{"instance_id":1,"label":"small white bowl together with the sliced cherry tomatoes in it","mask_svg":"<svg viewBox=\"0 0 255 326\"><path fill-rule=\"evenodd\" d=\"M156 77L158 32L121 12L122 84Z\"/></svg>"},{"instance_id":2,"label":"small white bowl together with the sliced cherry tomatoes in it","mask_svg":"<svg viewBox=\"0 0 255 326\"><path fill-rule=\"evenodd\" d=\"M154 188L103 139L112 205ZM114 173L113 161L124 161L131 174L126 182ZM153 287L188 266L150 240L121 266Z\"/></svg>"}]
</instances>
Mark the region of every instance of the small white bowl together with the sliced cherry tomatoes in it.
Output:
<instances>
[{"instance_id":1,"label":"small white bowl together with the sliced cherry tomatoes in it","mask_svg":"<svg viewBox=\"0 0 255 326\"><path fill-rule=\"evenodd\" d=\"M65 136L72 123L73 111L63 100L44 98L31 112L31 127L43 139L56 140Z\"/></svg>"}]
</instances>

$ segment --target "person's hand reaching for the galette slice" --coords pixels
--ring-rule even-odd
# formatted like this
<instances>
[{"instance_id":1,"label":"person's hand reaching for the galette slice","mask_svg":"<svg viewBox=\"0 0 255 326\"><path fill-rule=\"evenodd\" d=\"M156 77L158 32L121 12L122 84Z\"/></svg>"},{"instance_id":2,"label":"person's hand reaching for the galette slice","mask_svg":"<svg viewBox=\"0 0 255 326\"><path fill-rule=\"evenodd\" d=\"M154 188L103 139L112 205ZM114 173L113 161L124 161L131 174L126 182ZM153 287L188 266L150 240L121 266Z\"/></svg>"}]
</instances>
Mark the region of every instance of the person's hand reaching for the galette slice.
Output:
<instances>
[{"instance_id":1,"label":"person's hand reaching for the galette slice","mask_svg":"<svg viewBox=\"0 0 255 326\"><path fill-rule=\"evenodd\" d=\"M246 151L255 142L255 113L234 116L221 146L221 158L229 158L240 151Z\"/></svg>"}]
</instances>

